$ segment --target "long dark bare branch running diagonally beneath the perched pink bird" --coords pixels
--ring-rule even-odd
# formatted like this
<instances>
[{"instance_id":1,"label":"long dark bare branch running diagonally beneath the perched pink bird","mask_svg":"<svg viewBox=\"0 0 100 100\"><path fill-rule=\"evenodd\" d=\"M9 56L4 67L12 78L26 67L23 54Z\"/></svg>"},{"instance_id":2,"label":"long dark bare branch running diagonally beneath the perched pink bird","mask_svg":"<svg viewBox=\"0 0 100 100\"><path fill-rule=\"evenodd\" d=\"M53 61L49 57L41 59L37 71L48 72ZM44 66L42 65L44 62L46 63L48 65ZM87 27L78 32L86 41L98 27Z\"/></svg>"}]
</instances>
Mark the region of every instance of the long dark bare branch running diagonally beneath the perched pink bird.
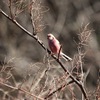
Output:
<instances>
[{"instance_id":1,"label":"long dark bare branch running diagonally beneath the perched pink bird","mask_svg":"<svg viewBox=\"0 0 100 100\"><path fill-rule=\"evenodd\" d=\"M46 46L43 44L43 42L37 37L37 35L33 35L31 32L29 32L28 30L26 30L23 26L21 26L15 19L12 19L11 17L9 17L9 15L7 15L2 9L0 9L0 13L2 15L4 15L6 18L8 18L10 21L12 21L15 25L17 25L21 30L23 30L27 35L29 35L30 37L34 38L37 43L39 43L42 48L44 50L46 50L49 54L51 53L51 51L46 48ZM84 97L86 100L88 99L87 93L85 88L83 87L82 83L80 81L78 81L76 78L74 78L74 76L72 74L70 74L70 72L64 67L64 65L61 63L61 61L55 56L55 55L51 55L58 63L59 65L62 67L62 69L69 75L69 77L79 86L79 88L81 89Z\"/></svg>"}]
</instances>

